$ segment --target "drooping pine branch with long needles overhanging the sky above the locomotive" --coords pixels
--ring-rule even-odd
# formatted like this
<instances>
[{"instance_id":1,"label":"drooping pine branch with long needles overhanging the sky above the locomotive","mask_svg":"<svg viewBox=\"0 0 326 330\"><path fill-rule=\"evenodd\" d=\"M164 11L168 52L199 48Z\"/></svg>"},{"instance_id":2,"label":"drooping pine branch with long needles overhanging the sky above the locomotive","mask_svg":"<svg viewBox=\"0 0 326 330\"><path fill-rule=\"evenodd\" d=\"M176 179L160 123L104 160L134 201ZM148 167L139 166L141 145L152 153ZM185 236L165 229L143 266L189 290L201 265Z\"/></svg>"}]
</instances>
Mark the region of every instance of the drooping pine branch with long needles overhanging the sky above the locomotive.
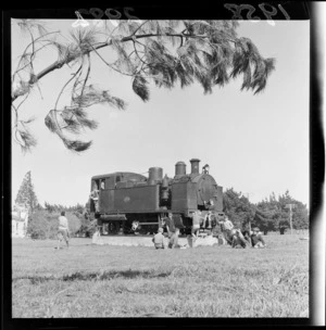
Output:
<instances>
[{"instance_id":1,"label":"drooping pine branch with long needles overhanging the sky above the locomotive","mask_svg":"<svg viewBox=\"0 0 326 330\"><path fill-rule=\"evenodd\" d=\"M147 27L145 27L146 24L148 24ZM18 82L12 91L12 101L21 96L26 96L22 101L23 103L27 99L33 85L38 84L43 76L65 64L70 66L70 63L80 63L82 60L78 71L64 84L54 109L46 117L48 128L55 132L68 149L80 151L89 148L91 142L70 140L63 135L62 129L79 134L83 127L96 128L97 124L88 119L86 114L83 113L83 109L93 104L110 103L120 109L124 107L123 100L111 97L108 91L96 90L91 85L87 86L91 69L91 52L95 52L110 68L134 77L133 89L145 102L149 100L147 77L152 77L156 86L165 88L174 87L175 81L179 81L180 86L185 87L198 80L203 87L204 93L208 93L212 92L214 85L224 86L230 77L236 78L242 74L241 90L251 89L254 93L258 93L265 88L267 77L275 68L274 59L263 59L250 39L237 38L234 31L235 24L215 21L186 21L184 24L186 28L181 33L177 33L174 30L175 24L171 22L165 24L164 22L146 21L140 25L129 23L126 25L129 36L112 38L111 34L110 38L109 35L103 34L108 37L104 42L98 42L96 37L101 34L99 31L77 30L72 34L74 42L68 46L50 41L39 49L36 49L36 42L47 40L35 39L30 29L28 29L32 42L25 49L13 78L15 75L21 77L20 72L26 67L30 69L30 77L28 82L23 80ZM28 28L28 25L26 26ZM139 34L139 31L142 34ZM139 41L142 38L146 39L143 43ZM173 50L164 46L162 38L168 38L167 40L174 47ZM180 39L177 49L175 48L175 38ZM128 41L133 43L127 43ZM142 46L143 49L139 50L136 43ZM58 49L59 58L54 63L35 75L35 54L49 45L53 45ZM131 50L128 48L129 45L133 48ZM27 53L29 47L32 47L32 53ZM106 47L113 47L117 52L117 60L113 63L108 63L99 52L100 49ZM176 54L174 51L176 51ZM88 59L87 66L85 64L86 56ZM59 111L57 109L59 101L72 80L75 81L71 107ZM20 105L17 107L13 106L16 115L16 129ZM61 117L57 118L59 112L62 114ZM60 119L60 124L58 119ZM21 131L18 134L22 137ZM23 134L24 138L28 141L29 137Z\"/></svg>"}]
</instances>

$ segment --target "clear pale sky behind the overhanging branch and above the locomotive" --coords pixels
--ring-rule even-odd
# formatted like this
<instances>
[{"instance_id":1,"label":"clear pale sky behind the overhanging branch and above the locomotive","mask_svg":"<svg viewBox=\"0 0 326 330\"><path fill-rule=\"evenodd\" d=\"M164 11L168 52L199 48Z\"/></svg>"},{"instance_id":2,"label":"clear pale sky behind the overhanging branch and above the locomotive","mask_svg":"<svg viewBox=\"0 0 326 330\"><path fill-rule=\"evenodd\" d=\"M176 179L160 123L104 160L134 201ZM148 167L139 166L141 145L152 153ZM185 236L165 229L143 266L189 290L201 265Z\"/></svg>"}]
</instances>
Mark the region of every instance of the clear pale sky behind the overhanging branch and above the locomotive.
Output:
<instances>
[{"instance_id":1,"label":"clear pale sky behind the overhanging branch and above the locomotive","mask_svg":"<svg viewBox=\"0 0 326 330\"><path fill-rule=\"evenodd\" d=\"M48 29L71 28L75 21L45 21ZM175 164L197 157L210 165L210 174L225 189L234 188L256 203L272 192L309 204L309 21L240 21L238 36L250 38L265 58L276 59L276 69L260 94L240 91L241 78L215 87L212 94L195 84L167 90L150 86L150 100L142 102L131 90L129 77L110 71L93 56L91 81L124 99L117 111L96 105L89 116L99 123L80 139L92 140L90 150L75 154L45 126L47 113L71 72L62 67L39 82L22 105L22 118L35 116L30 130L38 144L22 153L12 141L12 202L25 174L38 201L62 205L85 204L90 178L113 172L145 174L162 167L173 177ZM13 65L29 42L13 29ZM110 56L110 50L101 54ZM36 63L36 72L55 61L53 51ZM67 97L67 96L66 96Z\"/></svg>"}]
</instances>

